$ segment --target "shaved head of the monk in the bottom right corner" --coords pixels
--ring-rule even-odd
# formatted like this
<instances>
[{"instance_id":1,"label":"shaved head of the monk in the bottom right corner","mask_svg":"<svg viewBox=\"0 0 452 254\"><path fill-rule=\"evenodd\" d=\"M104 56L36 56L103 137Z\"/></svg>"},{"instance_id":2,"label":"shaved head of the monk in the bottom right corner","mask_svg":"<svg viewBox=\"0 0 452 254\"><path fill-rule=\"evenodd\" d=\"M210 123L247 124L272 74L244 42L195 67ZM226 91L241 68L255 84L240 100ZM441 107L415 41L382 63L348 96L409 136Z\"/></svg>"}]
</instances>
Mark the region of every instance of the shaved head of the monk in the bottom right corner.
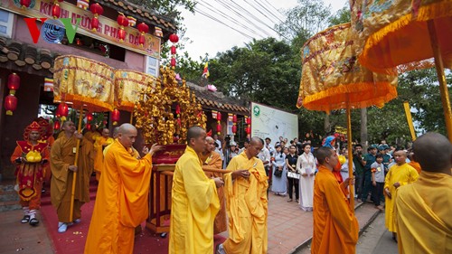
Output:
<instances>
[{"instance_id":1,"label":"shaved head of the monk in the bottom right corner","mask_svg":"<svg viewBox=\"0 0 452 254\"><path fill-rule=\"evenodd\" d=\"M446 136L428 132L419 136L413 144L414 157L422 171L450 174L452 144Z\"/></svg>"}]
</instances>

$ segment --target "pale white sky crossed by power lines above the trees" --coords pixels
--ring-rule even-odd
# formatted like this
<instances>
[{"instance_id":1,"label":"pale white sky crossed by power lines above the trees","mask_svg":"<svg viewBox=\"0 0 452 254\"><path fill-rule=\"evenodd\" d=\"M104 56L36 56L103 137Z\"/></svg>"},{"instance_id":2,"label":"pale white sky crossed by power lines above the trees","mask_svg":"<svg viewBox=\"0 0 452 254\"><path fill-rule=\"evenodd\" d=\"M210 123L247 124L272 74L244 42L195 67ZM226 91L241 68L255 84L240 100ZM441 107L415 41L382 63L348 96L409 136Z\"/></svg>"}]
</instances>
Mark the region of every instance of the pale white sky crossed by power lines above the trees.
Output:
<instances>
[{"instance_id":1,"label":"pale white sky crossed by power lines above the trees","mask_svg":"<svg viewBox=\"0 0 452 254\"><path fill-rule=\"evenodd\" d=\"M348 0L323 1L325 5L331 6L332 13L348 3ZM257 40L269 36L280 39L278 33L271 28L279 20L285 20L283 15L285 10L297 6L297 0L197 0L196 2L198 5L194 14L185 10L182 14L186 27L185 36L189 38L189 41L183 42L184 51L188 52L194 61L200 61L200 57L203 59L206 53L213 58L217 52L225 52L234 46L242 47L245 43L252 41L250 37Z\"/></svg>"}]
</instances>

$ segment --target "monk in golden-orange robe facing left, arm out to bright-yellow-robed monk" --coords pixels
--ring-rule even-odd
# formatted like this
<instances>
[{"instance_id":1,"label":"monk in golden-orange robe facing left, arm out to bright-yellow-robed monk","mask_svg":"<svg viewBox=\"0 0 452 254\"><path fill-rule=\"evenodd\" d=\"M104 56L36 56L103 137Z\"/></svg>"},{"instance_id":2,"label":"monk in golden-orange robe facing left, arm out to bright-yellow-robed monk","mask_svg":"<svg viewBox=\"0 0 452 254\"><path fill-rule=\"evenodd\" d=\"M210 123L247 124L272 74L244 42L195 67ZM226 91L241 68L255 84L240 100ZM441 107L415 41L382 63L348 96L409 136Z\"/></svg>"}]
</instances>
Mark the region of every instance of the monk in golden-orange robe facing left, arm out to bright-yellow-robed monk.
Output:
<instances>
[{"instance_id":1,"label":"monk in golden-orange robe facing left, arm out to bright-yellow-robed monk","mask_svg":"<svg viewBox=\"0 0 452 254\"><path fill-rule=\"evenodd\" d=\"M224 193L229 217L229 238L218 253L265 254L268 247L268 177L259 158L264 141L252 137L250 146L231 159L224 175Z\"/></svg>"}]
</instances>

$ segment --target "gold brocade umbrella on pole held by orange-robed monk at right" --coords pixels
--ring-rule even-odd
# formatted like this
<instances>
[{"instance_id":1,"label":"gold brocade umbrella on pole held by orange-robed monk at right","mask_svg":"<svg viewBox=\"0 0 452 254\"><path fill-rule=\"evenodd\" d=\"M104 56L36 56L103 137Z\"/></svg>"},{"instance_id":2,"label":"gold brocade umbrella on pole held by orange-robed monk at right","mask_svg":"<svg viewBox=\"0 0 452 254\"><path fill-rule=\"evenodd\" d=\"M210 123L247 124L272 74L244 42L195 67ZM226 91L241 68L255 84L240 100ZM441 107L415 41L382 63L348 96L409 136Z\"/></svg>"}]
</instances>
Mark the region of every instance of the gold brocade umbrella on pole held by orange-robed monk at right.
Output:
<instances>
[{"instance_id":1,"label":"gold brocade umbrella on pole held by orange-robed monk at right","mask_svg":"<svg viewBox=\"0 0 452 254\"><path fill-rule=\"evenodd\" d=\"M350 24L327 28L310 38L302 50L302 75L297 107L329 112L347 109L347 139L349 158L352 152L350 109L382 107L397 97L397 77L375 74L357 61L356 43ZM353 160L349 159L349 169ZM353 177L353 170L349 170ZM350 205L354 210L353 188Z\"/></svg>"}]
</instances>

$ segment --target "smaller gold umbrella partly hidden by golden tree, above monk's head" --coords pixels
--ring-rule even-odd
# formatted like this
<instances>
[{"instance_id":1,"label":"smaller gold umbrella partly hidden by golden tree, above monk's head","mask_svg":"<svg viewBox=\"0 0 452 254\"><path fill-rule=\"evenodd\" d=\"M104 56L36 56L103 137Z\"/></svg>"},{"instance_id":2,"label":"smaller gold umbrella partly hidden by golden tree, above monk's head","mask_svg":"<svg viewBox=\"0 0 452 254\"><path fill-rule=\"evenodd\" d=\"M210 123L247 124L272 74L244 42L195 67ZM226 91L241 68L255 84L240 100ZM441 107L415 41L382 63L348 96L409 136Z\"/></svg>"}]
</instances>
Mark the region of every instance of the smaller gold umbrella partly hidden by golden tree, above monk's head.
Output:
<instances>
[{"instance_id":1,"label":"smaller gold umbrella partly hidden by golden tree, above monk's head","mask_svg":"<svg viewBox=\"0 0 452 254\"><path fill-rule=\"evenodd\" d=\"M130 124L140 93L155 84L155 77L139 71L115 70L115 105L130 112Z\"/></svg>"}]
</instances>

